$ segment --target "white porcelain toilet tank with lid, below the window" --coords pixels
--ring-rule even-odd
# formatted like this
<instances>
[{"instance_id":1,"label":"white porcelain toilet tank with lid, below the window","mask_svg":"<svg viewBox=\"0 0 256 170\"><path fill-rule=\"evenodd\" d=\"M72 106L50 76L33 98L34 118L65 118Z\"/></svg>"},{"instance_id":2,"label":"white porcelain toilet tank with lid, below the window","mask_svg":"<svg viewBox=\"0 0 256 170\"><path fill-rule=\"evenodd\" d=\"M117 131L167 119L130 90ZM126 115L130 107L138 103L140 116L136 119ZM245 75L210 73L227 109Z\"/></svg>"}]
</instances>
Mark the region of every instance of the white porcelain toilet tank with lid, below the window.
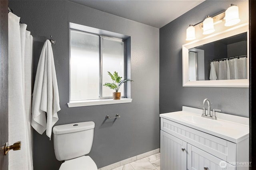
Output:
<instances>
[{"instance_id":1,"label":"white porcelain toilet tank with lid, below the window","mask_svg":"<svg viewBox=\"0 0 256 170\"><path fill-rule=\"evenodd\" d=\"M57 125L52 129L57 160L69 160L86 155L92 148L93 121Z\"/></svg>"}]
</instances>

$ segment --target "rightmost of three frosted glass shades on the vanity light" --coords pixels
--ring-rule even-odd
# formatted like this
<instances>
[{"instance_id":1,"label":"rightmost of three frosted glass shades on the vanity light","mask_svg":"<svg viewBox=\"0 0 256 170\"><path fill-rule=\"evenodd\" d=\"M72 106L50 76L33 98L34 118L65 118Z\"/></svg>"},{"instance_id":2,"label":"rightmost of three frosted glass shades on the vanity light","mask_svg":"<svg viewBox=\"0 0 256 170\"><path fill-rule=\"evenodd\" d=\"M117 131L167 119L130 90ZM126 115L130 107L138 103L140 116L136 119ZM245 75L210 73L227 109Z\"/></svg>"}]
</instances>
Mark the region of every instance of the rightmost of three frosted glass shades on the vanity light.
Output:
<instances>
[{"instance_id":1,"label":"rightmost of three frosted glass shades on the vanity light","mask_svg":"<svg viewBox=\"0 0 256 170\"><path fill-rule=\"evenodd\" d=\"M238 6L231 4L225 12L225 26L232 26L240 22Z\"/></svg>"}]
</instances>

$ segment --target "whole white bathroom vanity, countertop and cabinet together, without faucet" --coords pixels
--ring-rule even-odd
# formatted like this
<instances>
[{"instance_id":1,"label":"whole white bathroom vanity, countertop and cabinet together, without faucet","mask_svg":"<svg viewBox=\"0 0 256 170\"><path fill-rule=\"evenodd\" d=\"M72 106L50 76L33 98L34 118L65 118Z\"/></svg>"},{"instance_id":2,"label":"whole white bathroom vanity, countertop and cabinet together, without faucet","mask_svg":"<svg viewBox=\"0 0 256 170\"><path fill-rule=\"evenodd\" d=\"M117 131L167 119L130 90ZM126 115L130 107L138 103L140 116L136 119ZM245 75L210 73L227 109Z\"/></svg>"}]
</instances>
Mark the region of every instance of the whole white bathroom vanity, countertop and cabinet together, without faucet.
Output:
<instances>
[{"instance_id":1,"label":"whole white bathroom vanity, countertop and cabinet together, without faucet","mask_svg":"<svg viewBox=\"0 0 256 170\"><path fill-rule=\"evenodd\" d=\"M160 114L161 170L248 170L249 119L202 109Z\"/></svg>"}]
</instances>

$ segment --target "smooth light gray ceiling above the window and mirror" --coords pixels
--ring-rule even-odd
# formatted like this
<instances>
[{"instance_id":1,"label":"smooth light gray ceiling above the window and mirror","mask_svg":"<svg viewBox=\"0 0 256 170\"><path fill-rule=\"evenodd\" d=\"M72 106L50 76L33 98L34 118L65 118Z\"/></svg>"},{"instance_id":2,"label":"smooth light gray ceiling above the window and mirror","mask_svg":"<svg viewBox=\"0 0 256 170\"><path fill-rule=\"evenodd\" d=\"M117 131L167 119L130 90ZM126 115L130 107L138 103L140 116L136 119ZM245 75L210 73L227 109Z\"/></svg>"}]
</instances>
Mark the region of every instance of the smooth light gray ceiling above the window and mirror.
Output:
<instances>
[{"instance_id":1,"label":"smooth light gray ceiling above the window and mirror","mask_svg":"<svg viewBox=\"0 0 256 170\"><path fill-rule=\"evenodd\" d=\"M161 28L204 0L70 0L122 18Z\"/></svg>"}]
</instances>

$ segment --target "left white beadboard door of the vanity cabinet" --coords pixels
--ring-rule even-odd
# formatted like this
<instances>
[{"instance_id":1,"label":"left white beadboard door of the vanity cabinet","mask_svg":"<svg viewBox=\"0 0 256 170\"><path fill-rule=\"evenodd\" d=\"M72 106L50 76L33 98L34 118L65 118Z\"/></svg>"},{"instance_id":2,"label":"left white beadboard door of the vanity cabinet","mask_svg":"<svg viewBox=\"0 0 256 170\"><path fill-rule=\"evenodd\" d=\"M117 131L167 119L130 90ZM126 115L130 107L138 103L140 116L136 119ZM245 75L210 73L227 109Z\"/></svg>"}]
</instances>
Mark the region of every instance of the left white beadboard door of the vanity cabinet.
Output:
<instances>
[{"instance_id":1,"label":"left white beadboard door of the vanity cabinet","mask_svg":"<svg viewBox=\"0 0 256 170\"><path fill-rule=\"evenodd\" d=\"M187 169L187 143L162 131L160 134L161 170Z\"/></svg>"}]
</instances>

